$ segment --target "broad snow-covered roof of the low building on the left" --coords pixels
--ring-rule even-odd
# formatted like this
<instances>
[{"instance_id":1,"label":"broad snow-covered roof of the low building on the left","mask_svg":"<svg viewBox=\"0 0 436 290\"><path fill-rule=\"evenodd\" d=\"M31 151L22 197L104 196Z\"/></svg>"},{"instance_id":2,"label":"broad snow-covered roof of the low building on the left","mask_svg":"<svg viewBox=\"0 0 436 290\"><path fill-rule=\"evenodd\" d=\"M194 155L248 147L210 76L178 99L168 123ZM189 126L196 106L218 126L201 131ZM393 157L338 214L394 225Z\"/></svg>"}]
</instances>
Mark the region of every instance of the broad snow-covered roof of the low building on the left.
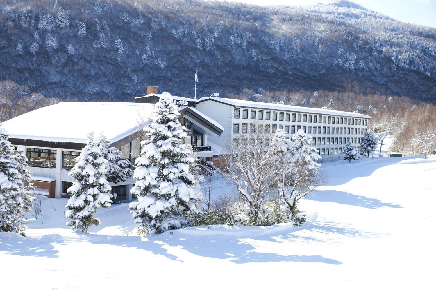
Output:
<instances>
[{"instance_id":1,"label":"broad snow-covered roof of the low building on the left","mask_svg":"<svg viewBox=\"0 0 436 290\"><path fill-rule=\"evenodd\" d=\"M2 123L11 138L86 143L89 132L103 132L113 143L127 137L151 117L154 104L61 102Z\"/></svg>"}]
</instances>

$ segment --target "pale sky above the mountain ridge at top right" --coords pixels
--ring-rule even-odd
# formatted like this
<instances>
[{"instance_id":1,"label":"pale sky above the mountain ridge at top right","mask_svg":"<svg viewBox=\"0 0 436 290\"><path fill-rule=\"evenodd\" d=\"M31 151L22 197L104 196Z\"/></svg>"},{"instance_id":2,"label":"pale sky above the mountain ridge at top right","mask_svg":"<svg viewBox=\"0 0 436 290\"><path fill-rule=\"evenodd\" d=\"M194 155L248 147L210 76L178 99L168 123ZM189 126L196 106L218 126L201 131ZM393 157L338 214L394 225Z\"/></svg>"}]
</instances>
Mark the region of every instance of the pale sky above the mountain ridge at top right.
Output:
<instances>
[{"instance_id":1,"label":"pale sky above the mountain ridge at top right","mask_svg":"<svg viewBox=\"0 0 436 290\"><path fill-rule=\"evenodd\" d=\"M256 5L300 5L331 3L332 0L227 0ZM402 22L436 28L436 0L353 0L369 10Z\"/></svg>"}]
</instances>

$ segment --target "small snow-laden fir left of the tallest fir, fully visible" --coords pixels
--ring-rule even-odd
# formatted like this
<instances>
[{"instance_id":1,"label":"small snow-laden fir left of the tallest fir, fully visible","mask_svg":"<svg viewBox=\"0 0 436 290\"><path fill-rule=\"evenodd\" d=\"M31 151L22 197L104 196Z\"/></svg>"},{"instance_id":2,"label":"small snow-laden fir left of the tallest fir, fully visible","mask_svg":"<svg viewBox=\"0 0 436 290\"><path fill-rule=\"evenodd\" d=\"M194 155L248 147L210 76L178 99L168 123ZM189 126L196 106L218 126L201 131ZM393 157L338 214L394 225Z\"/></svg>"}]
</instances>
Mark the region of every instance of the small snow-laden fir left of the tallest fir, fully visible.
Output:
<instances>
[{"instance_id":1,"label":"small snow-laden fir left of the tallest fir, fully visible","mask_svg":"<svg viewBox=\"0 0 436 290\"><path fill-rule=\"evenodd\" d=\"M106 180L107 163L99 138L90 133L86 146L68 174L75 180L68 188L68 193L72 194L65 212L66 217L72 219L67 223L68 227L88 233L89 226L101 223L93 214L100 207L109 207L112 203L111 187Z\"/></svg>"}]
</instances>

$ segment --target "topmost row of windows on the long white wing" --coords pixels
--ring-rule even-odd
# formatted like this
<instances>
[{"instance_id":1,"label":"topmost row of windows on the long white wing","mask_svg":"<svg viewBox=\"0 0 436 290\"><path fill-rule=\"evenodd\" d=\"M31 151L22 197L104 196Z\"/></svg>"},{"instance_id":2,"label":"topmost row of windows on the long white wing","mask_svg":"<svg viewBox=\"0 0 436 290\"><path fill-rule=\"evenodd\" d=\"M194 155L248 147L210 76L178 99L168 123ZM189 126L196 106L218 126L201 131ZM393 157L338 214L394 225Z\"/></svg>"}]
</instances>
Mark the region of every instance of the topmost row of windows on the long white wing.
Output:
<instances>
[{"instance_id":1,"label":"topmost row of windows on the long white wing","mask_svg":"<svg viewBox=\"0 0 436 290\"><path fill-rule=\"evenodd\" d=\"M233 111L233 118L240 118L240 110L239 108L235 108ZM271 113L272 112L272 113ZM344 125L362 125L367 126L367 119L356 119L356 118L347 118L347 117L334 117L334 116L322 116L322 115L313 115L313 114L303 114L303 113L285 113L285 112L277 112L277 111L265 111L264 116L263 110L250 110L250 119L256 120L272 120L277 121L277 117L279 121L292 121L292 122L308 122L308 123L328 123L328 124L344 124ZM242 109L242 119L249 118L249 110Z\"/></svg>"}]
</instances>

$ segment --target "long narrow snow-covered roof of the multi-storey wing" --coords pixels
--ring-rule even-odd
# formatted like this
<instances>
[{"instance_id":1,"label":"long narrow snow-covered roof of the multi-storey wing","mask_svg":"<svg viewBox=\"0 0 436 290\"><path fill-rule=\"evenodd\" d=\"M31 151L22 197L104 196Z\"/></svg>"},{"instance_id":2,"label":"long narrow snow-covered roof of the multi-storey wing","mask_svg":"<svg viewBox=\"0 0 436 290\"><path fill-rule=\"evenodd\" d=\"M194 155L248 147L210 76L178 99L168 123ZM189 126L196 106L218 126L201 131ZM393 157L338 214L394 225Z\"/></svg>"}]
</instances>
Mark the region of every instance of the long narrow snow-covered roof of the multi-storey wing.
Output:
<instances>
[{"instance_id":1,"label":"long narrow snow-covered roof of the multi-storey wing","mask_svg":"<svg viewBox=\"0 0 436 290\"><path fill-rule=\"evenodd\" d=\"M280 105L280 104L274 104L274 103L262 103L262 102L228 99L228 98L220 98L220 97L205 97L205 98L201 98L200 100L198 100L198 102L204 102L206 100L215 100L217 102L227 103L227 104L235 106L235 107L250 107L250 108L258 108L258 109L271 109L271 110L282 110L282 111L287 110L287 111L295 111L295 112L303 112L303 113L341 115L341 116L347 116L347 117L372 119L370 116L360 114L360 113L351 113L351 112L344 112L344 111L337 111L337 110L299 107L299 106L291 106L291 105Z\"/></svg>"}]
</instances>

